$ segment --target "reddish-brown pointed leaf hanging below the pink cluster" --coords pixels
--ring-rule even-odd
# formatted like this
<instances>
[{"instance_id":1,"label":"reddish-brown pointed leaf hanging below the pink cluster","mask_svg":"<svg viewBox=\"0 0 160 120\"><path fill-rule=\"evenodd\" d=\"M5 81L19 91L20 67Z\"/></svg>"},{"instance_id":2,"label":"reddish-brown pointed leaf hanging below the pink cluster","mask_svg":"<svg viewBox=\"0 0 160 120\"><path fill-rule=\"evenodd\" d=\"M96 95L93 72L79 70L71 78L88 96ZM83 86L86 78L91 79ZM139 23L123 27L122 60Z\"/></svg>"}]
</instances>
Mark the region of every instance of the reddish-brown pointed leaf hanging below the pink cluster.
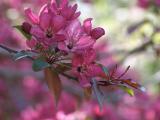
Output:
<instances>
[{"instance_id":1,"label":"reddish-brown pointed leaf hanging below the pink cluster","mask_svg":"<svg viewBox=\"0 0 160 120\"><path fill-rule=\"evenodd\" d=\"M55 70L52 68L45 68L44 69L45 74L45 80L47 82L47 85L54 95L56 105L58 104L58 101L60 99L61 90L62 90L62 84L61 80Z\"/></svg>"}]
</instances>

